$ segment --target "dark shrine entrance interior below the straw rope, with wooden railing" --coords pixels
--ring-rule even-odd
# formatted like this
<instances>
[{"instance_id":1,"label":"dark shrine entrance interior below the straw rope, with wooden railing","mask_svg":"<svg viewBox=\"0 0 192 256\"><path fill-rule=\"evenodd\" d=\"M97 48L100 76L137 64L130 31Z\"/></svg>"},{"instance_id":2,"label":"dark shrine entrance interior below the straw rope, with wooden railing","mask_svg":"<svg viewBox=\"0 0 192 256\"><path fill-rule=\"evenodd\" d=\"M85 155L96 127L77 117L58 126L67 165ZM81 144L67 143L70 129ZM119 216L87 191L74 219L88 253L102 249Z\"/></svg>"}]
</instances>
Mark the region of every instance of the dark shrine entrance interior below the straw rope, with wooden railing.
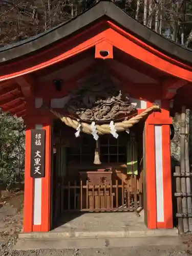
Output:
<instances>
[{"instance_id":1,"label":"dark shrine entrance interior below the straw rope, with wooden railing","mask_svg":"<svg viewBox=\"0 0 192 256\"><path fill-rule=\"evenodd\" d=\"M67 212L135 211L143 208L144 121L118 138L99 140L54 121L53 225ZM98 146L99 163L96 150Z\"/></svg>"}]
</instances>

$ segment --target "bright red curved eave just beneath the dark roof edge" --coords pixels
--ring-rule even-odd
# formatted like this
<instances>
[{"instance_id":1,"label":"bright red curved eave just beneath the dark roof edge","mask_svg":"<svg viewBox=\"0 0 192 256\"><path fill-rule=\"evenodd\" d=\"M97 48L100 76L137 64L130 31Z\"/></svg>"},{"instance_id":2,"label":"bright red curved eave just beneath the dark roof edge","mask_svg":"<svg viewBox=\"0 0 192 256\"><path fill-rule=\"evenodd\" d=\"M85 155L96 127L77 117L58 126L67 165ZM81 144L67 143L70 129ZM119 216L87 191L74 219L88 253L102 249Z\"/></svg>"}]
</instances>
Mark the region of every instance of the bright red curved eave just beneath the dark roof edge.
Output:
<instances>
[{"instance_id":1,"label":"bright red curved eave just beneath the dark roof edge","mask_svg":"<svg viewBox=\"0 0 192 256\"><path fill-rule=\"evenodd\" d=\"M103 40L109 42L124 54L143 61L146 65L150 65L168 75L192 81L190 66L146 45L146 43L109 21L91 26L89 29L71 36L68 40L54 44L49 49L41 50L37 55L34 54L0 67L0 81L44 69L93 48Z\"/></svg>"}]
</instances>

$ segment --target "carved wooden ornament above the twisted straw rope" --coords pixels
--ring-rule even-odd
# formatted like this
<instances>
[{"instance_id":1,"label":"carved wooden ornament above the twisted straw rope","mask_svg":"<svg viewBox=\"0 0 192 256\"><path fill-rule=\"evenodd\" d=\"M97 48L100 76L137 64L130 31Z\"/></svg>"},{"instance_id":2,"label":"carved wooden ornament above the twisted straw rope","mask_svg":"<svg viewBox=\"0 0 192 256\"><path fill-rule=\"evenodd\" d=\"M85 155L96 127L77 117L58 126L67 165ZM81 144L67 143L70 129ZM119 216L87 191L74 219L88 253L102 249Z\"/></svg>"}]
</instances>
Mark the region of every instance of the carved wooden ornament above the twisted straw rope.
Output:
<instances>
[{"instance_id":1,"label":"carved wooden ornament above the twisted straw rope","mask_svg":"<svg viewBox=\"0 0 192 256\"><path fill-rule=\"evenodd\" d=\"M82 86L83 84L83 86ZM105 71L81 81L79 88L66 104L68 113L83 121L112 121L119 115L128 116L136 111L129 98L119 91Z\"/></svg>"}]
</instances>

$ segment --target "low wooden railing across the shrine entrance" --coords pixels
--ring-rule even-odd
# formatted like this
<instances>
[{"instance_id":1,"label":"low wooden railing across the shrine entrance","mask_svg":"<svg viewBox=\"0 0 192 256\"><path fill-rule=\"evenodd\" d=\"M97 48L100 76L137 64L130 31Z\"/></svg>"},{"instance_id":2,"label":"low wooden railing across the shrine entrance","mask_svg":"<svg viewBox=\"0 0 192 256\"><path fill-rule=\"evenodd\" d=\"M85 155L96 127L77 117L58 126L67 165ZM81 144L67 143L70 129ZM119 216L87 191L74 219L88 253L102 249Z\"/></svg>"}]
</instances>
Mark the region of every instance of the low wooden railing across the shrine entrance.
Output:
<instances>
[{"instance_id":1,"label":"low wooden railing across the shrine entrance","mask_svg":"<svg viewBox=\"0 0 192 256\"><path fill-rule=\"evenodd\" d=\"M63 211L138 211L142 209L142 193L136 186L130 188L118 180L106 184L93 185L89 181L86 184L80 180L74 181L62 187L61 202ZM62 210L61 209L61 210Z\"/></svg>"}]
</instances>

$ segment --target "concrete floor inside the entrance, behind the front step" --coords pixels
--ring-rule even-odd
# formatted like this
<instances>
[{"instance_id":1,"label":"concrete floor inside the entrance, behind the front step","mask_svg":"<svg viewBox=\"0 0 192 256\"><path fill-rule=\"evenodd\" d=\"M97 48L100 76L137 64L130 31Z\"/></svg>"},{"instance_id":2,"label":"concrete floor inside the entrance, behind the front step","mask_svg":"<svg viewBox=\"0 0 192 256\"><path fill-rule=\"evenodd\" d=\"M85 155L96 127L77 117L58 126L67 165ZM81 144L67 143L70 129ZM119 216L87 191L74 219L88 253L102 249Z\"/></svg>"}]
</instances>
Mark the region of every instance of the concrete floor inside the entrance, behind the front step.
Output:
<instances>
[{"instance_id":1,"label":"concrete floor inside the entrance, behind the front step","mask_svg":"<svg viewBox=\"0 0 192 256\"><path fill-rule=\"evenodd\" d=\"M98 232L98 231L123 231L147 230L144 224L144 211L139 215L135 212L89 212L82 215L66 215L60 226L52 232Z\"/></svg>"}]
</instances>

